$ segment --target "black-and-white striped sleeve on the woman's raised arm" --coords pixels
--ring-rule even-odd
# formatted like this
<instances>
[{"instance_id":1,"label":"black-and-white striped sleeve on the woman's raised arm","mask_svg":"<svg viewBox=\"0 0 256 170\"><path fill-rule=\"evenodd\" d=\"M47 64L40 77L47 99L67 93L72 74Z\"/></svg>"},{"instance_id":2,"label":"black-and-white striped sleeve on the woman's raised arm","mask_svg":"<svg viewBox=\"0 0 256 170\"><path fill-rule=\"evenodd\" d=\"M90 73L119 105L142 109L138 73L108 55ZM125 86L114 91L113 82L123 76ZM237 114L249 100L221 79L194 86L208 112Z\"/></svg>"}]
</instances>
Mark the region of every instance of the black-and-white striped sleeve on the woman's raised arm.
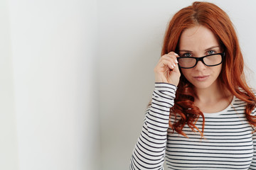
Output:
<instances>
[{"instance_id":1,"label":"black-and-white striped sleeve on the woman's raised arm","mask_svg":"<svg viewBox=\"0 0 256 170\"><path fill-rule=\"evenodd\" d=\"M173 84L155 83L151 106L146 110L130 169L163 169L169 111L174 106L175 93Z\"/></svg>"}]
</instances>

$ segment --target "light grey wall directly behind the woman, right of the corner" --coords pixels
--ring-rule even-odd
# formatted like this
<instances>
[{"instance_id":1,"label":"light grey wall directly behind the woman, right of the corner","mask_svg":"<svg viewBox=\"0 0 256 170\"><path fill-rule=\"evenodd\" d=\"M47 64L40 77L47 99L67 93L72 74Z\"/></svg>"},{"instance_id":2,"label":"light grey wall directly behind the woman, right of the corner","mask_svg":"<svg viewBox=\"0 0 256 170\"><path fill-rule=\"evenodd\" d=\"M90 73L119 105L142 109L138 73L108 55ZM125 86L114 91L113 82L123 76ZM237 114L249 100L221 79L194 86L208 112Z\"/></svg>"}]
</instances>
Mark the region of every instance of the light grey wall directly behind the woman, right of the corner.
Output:
<instances>
[{"instance_id":1,"label":"light grey wall directly behind the woman, right of the corner","mask_svg":"<svg viewBox=\"0 0 256 170\"><path fill-rule=\"evenodd\" d=\"M98 1L102 169L128 169L154 89L153 69L166 24L176 11L192 2ZM256 72L256 1L214 2L230 15L247 65Z\"/></svg>"}]
</instances>

